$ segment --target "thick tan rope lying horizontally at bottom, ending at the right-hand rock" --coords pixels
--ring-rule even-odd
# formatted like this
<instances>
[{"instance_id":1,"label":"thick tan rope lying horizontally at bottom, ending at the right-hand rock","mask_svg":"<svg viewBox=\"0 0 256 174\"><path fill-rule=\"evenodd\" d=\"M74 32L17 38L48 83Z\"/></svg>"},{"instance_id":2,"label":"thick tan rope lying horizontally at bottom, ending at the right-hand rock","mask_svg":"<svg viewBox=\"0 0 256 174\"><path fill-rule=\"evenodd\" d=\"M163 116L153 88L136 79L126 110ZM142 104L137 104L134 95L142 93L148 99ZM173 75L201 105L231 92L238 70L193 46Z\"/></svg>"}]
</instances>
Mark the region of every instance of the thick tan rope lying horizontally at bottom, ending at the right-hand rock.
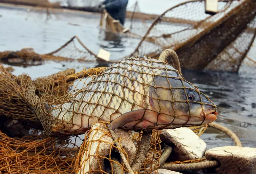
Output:
<instances>
[{"instance_id":1,"label":"thick tan rope lying horizontally at bottom, ending at the right-hand rock","mask_svg":"<svg viewBox=\"0 0 256 174\"><path fill-rule=\"evenodd\" d=\"M198 170L198 169L205 169L205 168L212 168L217 167L219 165L218 161L204 161L199 163L192 163L192 164L164 164L159 168L173 170L173 171L180 171L180 170Z\"/></svg>"}]
</instances>

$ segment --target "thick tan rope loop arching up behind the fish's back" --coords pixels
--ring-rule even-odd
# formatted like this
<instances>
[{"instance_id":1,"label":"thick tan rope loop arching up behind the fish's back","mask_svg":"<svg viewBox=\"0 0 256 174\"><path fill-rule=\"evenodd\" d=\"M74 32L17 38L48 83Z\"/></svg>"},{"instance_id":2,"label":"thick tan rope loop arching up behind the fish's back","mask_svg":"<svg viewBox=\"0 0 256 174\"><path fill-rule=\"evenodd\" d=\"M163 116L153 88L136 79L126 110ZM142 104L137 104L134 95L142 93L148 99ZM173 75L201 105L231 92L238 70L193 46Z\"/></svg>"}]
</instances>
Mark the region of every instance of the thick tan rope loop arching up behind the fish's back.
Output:
<instances>
[{"instance_id":1,"label":"thick tan rope loop arching up behind the fish's back","mask_svg":"<svg viewBox=\"0 0 256 174\"><path fill-rule=\"evenodd\" d=\"M178 71L181 73L181 65L180 65L180 63L179 63L179 58L178 58L176 52L173 51L172 49L166 49L166 50L164 50L164 51L160 54L158 60L161 60L161 61L165 62L165 60L166 60L168 57L171 57L171 59L173 60L174 68L175 68L176 70L178 70Z\"/></svg>"}]
</instances>

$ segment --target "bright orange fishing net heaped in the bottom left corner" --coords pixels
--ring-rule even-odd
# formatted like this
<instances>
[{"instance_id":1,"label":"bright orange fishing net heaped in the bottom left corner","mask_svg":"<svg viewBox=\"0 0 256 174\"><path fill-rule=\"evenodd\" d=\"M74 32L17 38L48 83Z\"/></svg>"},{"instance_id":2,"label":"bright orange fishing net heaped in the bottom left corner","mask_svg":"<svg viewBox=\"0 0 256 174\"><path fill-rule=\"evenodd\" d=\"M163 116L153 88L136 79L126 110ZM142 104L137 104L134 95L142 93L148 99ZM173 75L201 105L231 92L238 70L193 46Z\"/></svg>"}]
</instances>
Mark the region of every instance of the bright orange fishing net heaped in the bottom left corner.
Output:
<instances>
[{"instance_id":1,"label":"bright orange fishing net heaped in the bottom left corner","mask_svg":"<svg viewBox=\"0 0 256 174\"><path fill-rule=\"evenodd\" d=\"M38 132L11 138L0 131L0 172L74 173L81 142L77 136L60 141Z\"/></svg>"}]
</instances>

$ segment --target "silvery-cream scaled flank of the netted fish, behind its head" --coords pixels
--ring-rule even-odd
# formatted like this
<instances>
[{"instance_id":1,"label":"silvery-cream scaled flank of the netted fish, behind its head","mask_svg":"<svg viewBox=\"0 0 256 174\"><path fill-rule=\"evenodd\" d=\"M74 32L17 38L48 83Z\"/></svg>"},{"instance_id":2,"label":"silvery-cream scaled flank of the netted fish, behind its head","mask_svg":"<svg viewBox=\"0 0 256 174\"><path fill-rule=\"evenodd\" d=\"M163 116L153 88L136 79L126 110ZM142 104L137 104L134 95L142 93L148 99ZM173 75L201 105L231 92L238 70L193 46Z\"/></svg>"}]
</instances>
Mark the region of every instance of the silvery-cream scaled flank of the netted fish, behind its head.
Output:
<instances>
[{"instance_id":1,"label":"silvery-cream scaled flank of the netted fish, behind its head","mask_svg":"<svg viewBox=\"0 0 256 174\"><path fill-rule=\"evenodd\" d=\"M166 75L166 69L169 76L178 77L171 65L159 60L126 58L93 78L70 102L54 107L50 114L69 123L72 117L81 120L82 115L89 120L86 126L99 119L111 122L125 112L147 107L143 97L148 94L153 75Z\"/></svg>"}]
</instances>

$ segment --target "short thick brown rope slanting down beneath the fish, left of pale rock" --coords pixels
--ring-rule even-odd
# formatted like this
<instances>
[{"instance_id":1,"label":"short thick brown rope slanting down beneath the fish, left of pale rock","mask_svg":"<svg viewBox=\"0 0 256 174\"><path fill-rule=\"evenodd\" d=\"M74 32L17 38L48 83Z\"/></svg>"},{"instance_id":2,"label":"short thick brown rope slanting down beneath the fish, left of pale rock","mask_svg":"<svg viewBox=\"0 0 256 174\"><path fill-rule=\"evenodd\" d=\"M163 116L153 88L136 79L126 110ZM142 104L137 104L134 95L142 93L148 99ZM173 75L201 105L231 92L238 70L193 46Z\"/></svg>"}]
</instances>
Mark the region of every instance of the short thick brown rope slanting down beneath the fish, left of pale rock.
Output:
<instances>
[{"instance_id":1,"label":"short thick brown rope slanting down beneath the fish, left of pale rock","mask_svg":"<svg viewBox=\"0 0 256 174\"><path fill-rule=\"evenodd\" d=\"M150 146L150 139L151 139L151 133L152 130L149 130L148 133L143 132L141 141L140 141L140 146L137 150L135 159L133 160L131 164L131 169L133 171L139 172L141 166L146 160L147 154L148 154L148 149Z\"/></svg>"}]
</instances>

